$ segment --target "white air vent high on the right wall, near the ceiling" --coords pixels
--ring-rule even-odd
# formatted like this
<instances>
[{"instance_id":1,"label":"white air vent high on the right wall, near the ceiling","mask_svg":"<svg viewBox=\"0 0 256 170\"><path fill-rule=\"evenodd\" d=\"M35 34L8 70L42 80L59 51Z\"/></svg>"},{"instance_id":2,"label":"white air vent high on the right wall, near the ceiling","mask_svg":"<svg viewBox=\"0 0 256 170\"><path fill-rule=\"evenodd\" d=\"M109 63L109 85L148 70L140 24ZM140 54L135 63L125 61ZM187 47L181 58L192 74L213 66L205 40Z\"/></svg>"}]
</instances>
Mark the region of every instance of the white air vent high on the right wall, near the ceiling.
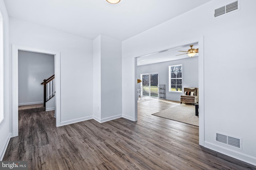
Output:
<instances>
[{"instance_id":1,"label":"white air vent high on the right wall, near the ceiling","mask_svg":"<svg viewBox=\"0 0 256 170\"><path fill-rule=\"evenodd\" d=\"M229 12L235 12L237 10L240 10L239 0L215 9L214 17L222 16L224 14L228 14Z\"/></svg>"}]
</instances>

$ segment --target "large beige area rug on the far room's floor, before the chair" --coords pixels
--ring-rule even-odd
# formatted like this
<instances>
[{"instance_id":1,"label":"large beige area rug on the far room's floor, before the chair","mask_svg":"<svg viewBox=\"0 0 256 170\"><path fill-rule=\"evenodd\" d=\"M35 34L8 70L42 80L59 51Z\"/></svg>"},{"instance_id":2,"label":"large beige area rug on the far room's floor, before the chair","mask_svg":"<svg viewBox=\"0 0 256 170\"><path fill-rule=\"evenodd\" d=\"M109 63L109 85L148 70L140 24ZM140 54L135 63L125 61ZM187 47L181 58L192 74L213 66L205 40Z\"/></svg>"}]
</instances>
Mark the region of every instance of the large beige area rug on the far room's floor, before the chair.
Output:
<instances>
[{"instance_id":1,"label":"large beige area rug on the far room's floor, before the chair","mask_svg":"<svg viewBox=\"0 0 256 170\"><path fill-rule=\"evenodd\" d=\"M153 113L152 115L199 126L199 119L198 116L195 115L195 106L193 105L177 105L172 108Z\"/></svg>"}]
</instances>

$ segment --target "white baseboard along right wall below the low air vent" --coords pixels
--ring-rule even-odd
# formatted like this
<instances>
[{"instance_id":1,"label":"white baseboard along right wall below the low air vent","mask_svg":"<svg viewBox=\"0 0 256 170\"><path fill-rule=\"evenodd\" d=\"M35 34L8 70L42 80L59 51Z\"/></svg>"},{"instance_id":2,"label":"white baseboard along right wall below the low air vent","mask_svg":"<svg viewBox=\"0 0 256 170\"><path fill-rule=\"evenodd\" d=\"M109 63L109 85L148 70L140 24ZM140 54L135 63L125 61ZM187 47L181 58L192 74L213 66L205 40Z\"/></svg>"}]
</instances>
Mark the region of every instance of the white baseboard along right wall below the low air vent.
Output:
<instances>
[{"instance_id":1,"label":"white baseboard along right wall below the low air vent","mask_svg":"<svg viewBox=\"0 0 256 170\"><path fill-rule=\"evenodd\" d=\"M256 157L241 153L238 150L229 149L206 141L204 142L204 147L256 166Z\"/></svg>"}]
</instances>

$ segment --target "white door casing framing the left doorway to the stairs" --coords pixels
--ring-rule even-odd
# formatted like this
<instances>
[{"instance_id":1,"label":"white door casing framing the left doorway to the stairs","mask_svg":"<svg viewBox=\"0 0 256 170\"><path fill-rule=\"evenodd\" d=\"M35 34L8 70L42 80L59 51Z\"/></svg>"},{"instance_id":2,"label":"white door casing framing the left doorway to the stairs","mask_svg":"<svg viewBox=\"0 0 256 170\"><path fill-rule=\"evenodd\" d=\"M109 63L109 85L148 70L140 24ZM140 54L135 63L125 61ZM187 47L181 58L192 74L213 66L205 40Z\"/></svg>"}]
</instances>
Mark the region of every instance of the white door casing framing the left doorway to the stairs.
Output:
<instances>
[{"instance_id":1,"label":"white door casing framing the left doorway to the stairs","mask_svg":"<svg viewBox=\"0 0 256 170\"><path fill-rule=\"evenodd\" d=\"M20 45L12 45L12 136L18 136L18 51L26 51L32 53L41 53L54 56L54 75L55 75L55 117L56 126L60 126L60 52L37 49L34 47L25 47ZM32 81L41 81L35 80Z\"/></svg>"}]
</instances>

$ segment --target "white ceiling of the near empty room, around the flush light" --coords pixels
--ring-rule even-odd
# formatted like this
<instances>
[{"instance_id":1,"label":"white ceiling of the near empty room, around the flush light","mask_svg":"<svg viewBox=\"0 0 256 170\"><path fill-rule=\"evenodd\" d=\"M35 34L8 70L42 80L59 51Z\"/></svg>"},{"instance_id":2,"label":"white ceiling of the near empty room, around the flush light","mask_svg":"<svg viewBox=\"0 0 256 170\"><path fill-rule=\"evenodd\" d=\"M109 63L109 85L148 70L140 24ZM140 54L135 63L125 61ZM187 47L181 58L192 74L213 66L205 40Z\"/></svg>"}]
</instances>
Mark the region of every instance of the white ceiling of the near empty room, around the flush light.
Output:
<instances>
[{"instance_id":1,"label":"white ceiling of the near empty room, around the flush light","mask_svg":"<svg viewBox=\"0 0 256 170\"><path fill-rule=\"evenodd\" d=\"M10 17L89 39L121 41L210 0L4 0Z\"/></svg>"}]
</instances>

